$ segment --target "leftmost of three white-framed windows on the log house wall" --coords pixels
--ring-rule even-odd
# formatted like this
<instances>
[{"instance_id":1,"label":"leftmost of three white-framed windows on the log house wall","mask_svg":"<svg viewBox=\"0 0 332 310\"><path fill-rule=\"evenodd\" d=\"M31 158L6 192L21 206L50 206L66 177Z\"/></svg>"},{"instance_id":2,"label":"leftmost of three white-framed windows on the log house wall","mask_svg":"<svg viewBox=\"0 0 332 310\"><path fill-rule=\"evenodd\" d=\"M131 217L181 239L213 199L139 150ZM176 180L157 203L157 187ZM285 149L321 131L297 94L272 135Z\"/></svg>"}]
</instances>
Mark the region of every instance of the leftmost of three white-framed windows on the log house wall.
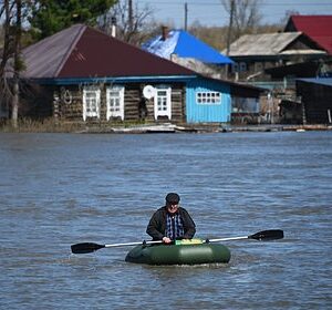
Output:
<instances>
[{"instance_id":1,"label":"leftmost of three white-framed windows on the log house wall","mask_svg":"<svg viewBox=\"0 0 332 310\"><path fill-rule=\"evenodd\" d=\"M101 90L96 86L83 89L83 120L86 117L101 117Z\"/></svg>"}]
</instances>

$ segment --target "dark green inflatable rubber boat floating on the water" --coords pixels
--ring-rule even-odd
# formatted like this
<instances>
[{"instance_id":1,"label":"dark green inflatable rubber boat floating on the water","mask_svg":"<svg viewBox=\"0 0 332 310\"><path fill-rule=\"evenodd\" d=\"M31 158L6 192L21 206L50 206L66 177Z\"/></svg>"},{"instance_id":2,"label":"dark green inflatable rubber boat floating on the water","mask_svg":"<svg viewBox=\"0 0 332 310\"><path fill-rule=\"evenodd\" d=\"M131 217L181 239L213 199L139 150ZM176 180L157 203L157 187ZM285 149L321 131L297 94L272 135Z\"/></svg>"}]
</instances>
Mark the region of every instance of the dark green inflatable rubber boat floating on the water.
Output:
<instances>
[{"instance_id":1,"label":"dark green inflatable rubber boat floating on the water","mask_svg":"<svg viewBox=\"0 0 332 310\"><path fill-rule=\"evenodd\" d=\"M126 256L128 262L147 265L201 265L229 262L230 251L220 244L178 242L176 245L138 245Z\"/></svg>"}]
</instances>

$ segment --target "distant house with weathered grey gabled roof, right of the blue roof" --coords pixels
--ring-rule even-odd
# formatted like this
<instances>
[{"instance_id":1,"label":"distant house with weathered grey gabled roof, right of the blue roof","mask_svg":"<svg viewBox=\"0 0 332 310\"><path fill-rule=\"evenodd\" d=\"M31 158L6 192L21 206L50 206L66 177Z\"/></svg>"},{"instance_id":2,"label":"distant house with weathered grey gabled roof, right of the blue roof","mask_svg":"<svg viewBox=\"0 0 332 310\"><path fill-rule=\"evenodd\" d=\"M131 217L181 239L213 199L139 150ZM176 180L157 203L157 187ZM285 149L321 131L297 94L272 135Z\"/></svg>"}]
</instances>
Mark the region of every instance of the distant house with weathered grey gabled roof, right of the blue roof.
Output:
<instances>
[{"instance_id":1,"label":"distant house with weathered grey gabled roof, right of the blue roof","mask_svg":"<svg viewBox=\"0 0 332 310\"><path fill-rule=\"evenodd\" d=\"M240 81L269 81L266 70L324 58L326 52L301 32L246 34L231 43L232 74Z\"/></svg>"}]
</instances>

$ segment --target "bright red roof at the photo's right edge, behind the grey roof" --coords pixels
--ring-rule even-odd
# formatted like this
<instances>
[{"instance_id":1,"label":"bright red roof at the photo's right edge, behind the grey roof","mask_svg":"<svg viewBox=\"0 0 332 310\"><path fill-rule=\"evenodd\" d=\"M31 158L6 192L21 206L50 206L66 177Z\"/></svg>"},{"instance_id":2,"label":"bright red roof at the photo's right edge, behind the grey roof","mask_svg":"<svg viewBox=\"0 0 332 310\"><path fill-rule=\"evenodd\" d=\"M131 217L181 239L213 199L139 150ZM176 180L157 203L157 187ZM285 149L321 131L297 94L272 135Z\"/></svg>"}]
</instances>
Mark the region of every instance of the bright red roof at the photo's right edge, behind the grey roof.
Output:
<instances>
[{"instance_id":1,"label":"bright red roof at the photo's right edge, behind the grey roof","mask_svg":"<svg viewBox=\"0 0 332 310\"><path fill-rule=\"evenodd\" d=\"M332 16L291 16L284 31L301 31L332 54Z\"/></svg>"}]
</instances>

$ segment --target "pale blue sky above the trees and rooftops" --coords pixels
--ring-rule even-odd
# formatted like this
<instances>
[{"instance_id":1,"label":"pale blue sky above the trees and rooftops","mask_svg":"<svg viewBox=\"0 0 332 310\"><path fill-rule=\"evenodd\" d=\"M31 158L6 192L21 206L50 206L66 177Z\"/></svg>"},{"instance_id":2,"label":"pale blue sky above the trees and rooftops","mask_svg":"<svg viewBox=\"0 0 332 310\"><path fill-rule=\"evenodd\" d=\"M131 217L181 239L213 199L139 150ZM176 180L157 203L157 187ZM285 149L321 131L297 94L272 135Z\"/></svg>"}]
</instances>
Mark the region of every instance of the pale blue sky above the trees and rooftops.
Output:
<instances>
[{"instance_id":1,"label":"pale blue sky above the trees and rooftops","mask_svg":"<svg viewBox=\"0 0 332 310\"><path fill-rule=\"evenodd\" d=\"M278 23L287 11L300 14L332 14L332 0L260 0L262 23ZM133 0L138 9L146 4L153 10L157 22L165 22L175 28L184 28L185 3L188 8L188 25L198 21L206 27L222 27L229 23L229 14L221 0Z\"/></svg>"}]
</instances>

